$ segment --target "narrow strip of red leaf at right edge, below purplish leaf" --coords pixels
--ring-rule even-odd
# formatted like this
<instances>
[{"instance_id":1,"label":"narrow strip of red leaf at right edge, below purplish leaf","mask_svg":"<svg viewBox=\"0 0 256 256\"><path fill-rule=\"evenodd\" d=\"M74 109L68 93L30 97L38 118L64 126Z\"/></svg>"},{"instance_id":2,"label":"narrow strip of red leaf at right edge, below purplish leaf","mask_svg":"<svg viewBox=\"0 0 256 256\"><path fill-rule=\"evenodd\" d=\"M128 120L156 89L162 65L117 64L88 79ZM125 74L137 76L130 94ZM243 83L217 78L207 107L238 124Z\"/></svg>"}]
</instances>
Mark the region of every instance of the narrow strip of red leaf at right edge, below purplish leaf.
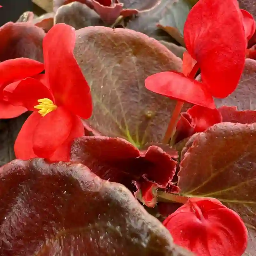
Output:
<instances>
[{"instance_id":1,"label":"narrow strip of red leaf at right edge, below purplish leaf","mask_svg":"<svg viewBox=\"0 0 256 256\"><path fill-rule=\"evenodd\" d=\"M223 122L253 124L256 123L256 111L245 110L237 111L236 107L223 106L218 108L222 116Z\"/></svg>"}]
</instances>

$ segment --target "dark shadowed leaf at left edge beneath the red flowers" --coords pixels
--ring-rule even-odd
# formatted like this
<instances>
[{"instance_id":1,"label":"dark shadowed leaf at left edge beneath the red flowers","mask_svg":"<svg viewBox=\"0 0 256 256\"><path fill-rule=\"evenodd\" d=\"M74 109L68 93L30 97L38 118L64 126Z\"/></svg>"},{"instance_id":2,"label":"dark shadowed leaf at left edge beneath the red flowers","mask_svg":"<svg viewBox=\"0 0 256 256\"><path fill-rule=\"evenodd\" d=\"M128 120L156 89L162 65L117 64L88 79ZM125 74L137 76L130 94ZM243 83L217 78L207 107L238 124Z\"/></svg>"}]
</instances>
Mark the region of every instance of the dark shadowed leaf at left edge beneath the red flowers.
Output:
<instances>
[{"instance_id":1,"label":"dark shadowed leaf at left edge beneath the red flowers","mask_svg":"<svg viewBox=\"0 0 256 256\"><path fill-rule=\"evenodd\" d=\"M15 159L14 142L30 113L12 119L0 119L0 166Z\"/></svg>"}]
</instances>

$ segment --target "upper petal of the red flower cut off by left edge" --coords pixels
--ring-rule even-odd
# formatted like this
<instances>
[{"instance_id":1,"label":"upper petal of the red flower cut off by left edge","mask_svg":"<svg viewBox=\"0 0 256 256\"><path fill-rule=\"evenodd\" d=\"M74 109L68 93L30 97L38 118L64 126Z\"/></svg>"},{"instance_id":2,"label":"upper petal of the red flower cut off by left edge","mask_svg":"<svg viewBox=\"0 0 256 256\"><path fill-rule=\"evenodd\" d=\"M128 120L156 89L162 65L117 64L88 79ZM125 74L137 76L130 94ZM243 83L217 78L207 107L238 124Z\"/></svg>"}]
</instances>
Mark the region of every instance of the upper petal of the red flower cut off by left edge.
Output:
<instances>
[{"instance_id":1,"label":"upper petal of the red flower cut off by left edge","mask_svg":"<svg viewBox=\"0 0 256 256\"><path fill-rule=\"evenodd\" d=\"M7 83L34 76L43 70L43 63L27 58L17 58L0 62L0 89Z\"/></svg>"}]
</instances>

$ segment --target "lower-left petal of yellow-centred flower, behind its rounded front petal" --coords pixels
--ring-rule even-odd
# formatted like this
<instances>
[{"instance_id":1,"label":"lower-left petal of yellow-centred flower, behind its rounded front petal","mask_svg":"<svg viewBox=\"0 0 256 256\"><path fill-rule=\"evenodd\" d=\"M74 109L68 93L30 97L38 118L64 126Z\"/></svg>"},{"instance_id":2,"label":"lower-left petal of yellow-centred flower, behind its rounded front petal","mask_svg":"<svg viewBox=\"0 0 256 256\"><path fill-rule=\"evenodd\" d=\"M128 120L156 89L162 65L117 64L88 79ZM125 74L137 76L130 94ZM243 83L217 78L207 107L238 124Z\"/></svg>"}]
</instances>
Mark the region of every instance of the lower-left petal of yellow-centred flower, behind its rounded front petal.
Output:
<instances>
[{"instance_id":1,"label":"lower-left petal of yellow-centred flower, behind its rounded front petal","mask_svg":"<svg viewBox=\"0 0 256 256\"><path fill-rule=\"evenodd\" d=\"M33 151L33 132L39 120L43 118L38 112L33 112L22 125L14 144L15 156L18 159L28 160L38 157Z\"/></svg>"}]
</instances>

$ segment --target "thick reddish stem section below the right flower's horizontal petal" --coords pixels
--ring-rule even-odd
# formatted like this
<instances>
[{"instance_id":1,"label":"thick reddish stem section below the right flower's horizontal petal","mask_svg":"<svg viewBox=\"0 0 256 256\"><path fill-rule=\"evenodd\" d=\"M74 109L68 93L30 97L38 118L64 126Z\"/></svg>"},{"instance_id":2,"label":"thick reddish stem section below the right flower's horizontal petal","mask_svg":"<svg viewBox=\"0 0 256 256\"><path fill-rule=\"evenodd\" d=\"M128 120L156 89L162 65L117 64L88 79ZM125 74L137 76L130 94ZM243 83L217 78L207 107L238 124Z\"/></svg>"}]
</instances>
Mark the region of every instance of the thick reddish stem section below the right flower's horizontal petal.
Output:
<instances>
[{"instance_id":1,"label":"thick reddish stem section below the right flower's horizontal petal","mask_svg":"<svg viewBox=\"0 0 256 256\"><path fill-rule=\"evenodd\" d=\"M184 104L183 101L178 101L177 100L176 106L175 106L175 108L173 110L173 113L172 113L170 123L168 125L168 128L167 128L165 134L164 134L164 139L162 140L162 143L169 144L170 138L174 135L175 128L176 128L176 125L178 123L179 116L180 116L180 111L183 107L183 104Z\"/></svg>"}]
</instances>

